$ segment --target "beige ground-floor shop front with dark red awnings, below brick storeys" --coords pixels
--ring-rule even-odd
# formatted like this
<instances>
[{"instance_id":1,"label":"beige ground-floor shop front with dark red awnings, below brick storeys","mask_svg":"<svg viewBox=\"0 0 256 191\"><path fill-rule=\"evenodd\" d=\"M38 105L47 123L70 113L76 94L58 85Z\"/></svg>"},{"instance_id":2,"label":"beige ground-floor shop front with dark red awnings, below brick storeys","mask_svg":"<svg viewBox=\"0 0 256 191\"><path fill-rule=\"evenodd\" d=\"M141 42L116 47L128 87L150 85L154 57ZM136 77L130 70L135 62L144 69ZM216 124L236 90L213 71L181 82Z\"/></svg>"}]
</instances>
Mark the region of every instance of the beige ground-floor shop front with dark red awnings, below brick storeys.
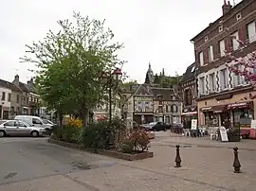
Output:
<instances>
[{"instance_id":1,"label":"beige ground-floor shop front with dark red awnings, below brick storeys","mask_svg":"<svg viewBox=\"0 0 256 191\"><path fill-rule=\"evenodd\" d=\"M233 127L239 123L241 129L249 129L251 119L255 119L256 99L249 98L253 93L227 94L202 99L198 103L198 124L208 127Z\"/></svg>"}]
</instances>

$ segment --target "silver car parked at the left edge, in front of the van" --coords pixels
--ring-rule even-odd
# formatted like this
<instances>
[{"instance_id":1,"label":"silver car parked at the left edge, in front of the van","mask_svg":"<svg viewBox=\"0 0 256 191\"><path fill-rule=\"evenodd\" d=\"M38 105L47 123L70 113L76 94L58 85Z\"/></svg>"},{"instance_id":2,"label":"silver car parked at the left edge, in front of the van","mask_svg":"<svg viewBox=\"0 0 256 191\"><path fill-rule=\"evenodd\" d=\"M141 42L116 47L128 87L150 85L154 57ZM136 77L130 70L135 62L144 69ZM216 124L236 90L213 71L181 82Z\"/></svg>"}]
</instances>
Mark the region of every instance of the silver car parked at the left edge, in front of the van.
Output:
<instances>
[{"instance_id":1,"label":"silver car parked at the left edge, in front of the van","mask_svg":"<svg viewBox=\"0 0 256 191\"><path fill-rule=\"evenodd\" d=\"M44 128L33 127L24 121L19 120L0 120L0 137L4 136L44 136Z\"/></svg>"}]
</instances>

